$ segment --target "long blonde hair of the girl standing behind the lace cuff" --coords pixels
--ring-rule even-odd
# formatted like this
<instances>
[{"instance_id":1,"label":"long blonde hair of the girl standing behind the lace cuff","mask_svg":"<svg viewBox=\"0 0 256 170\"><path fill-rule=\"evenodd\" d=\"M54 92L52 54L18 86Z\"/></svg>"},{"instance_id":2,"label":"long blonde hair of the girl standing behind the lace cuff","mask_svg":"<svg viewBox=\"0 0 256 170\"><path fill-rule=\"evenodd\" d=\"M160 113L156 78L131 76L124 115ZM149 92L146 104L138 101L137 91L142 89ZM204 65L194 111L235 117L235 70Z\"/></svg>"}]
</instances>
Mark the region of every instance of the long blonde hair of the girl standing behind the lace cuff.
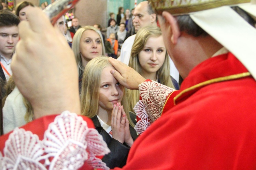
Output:
<instances>
[{"instance_id":1,"label":"long blonde hair of the girl standing behind the lace cuff","mask_svg":"<svg viewBox=\"0 0 256 170\"><path fill-rule=\"evenodd\" d=\"M159 37L162 35L162 32L157 26L146 26L141 28L136 34L134 43L131 49L131 57L129 60L129 66L136 70L140 75L142 75L142 67L139 62L139 53L143 50L148 38L150 37ZM171 77L170 77L170 63L169 56L166 52L165 61L163 65L158 69L157 76L161 84L174 88ZM127 98L129 99L129 111L133 111L134 105L139 101L140 93L138 90L129 90L127 89Z\"/></svg>"}]
</instances>

